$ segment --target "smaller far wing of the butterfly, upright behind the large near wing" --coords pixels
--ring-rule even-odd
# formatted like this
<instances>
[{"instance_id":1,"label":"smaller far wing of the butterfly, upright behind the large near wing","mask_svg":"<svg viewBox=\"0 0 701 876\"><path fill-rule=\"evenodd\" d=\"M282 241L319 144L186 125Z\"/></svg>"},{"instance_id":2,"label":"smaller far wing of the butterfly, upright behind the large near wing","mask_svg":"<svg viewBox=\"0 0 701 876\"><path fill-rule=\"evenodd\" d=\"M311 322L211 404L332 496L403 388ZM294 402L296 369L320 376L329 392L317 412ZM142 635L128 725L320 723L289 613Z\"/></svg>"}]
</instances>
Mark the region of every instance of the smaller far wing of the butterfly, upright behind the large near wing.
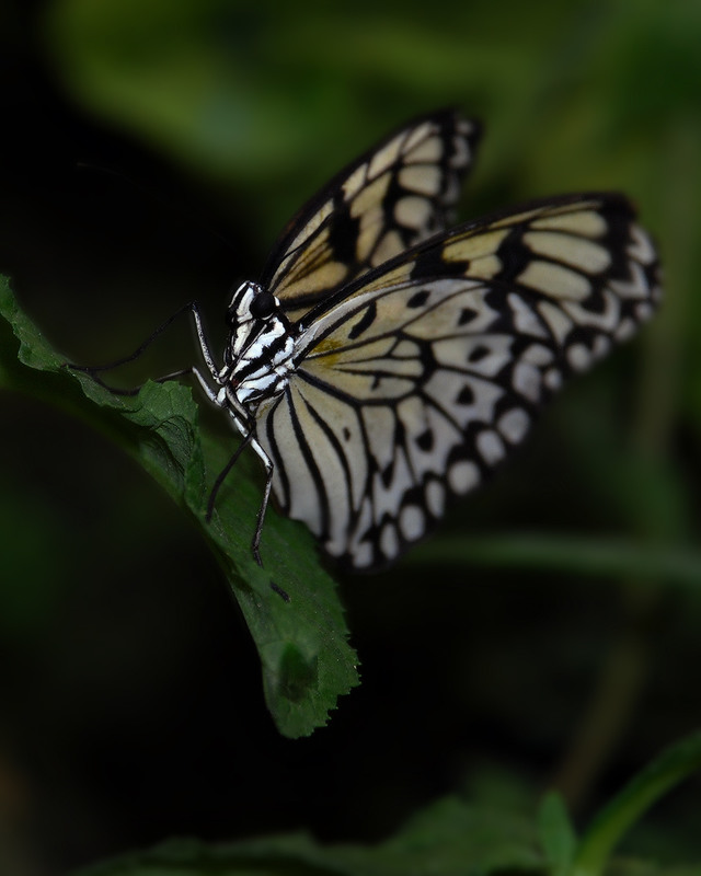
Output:
<instances>
[{"instance_id":1,"label":"smaller far wing of the butterfly, upright behind the large near wing","mask_svg":"<svg viewBox=\"0 0 701 876\"><path fill-rule=\"evenodd\" d=\"M479 125L444 111L403 127L342 171L292 219L261 285L292 321L352 279L441 231Z\"/></svg>"}]
</instances>

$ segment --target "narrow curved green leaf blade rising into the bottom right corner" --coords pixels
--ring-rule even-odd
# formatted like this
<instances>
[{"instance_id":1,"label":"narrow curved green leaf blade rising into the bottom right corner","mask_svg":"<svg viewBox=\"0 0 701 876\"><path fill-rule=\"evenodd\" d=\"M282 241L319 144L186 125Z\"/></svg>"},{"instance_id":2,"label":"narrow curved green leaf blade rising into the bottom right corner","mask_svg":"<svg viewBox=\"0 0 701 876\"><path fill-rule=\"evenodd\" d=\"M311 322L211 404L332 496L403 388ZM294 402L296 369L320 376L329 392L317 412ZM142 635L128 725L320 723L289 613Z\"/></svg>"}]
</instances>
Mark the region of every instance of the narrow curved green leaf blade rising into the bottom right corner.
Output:
<instances>
[{"instance_id":1,"label":"narrow curved green leaf blade rising into the bottom right corner","mask_svg":"<svg viewBox=\"0 0 701 876\"><path fill-rule=\"evenodd\" d=\"M623 833L667 791L701 770L701 733L677 742L642 770L595 818L572 866L572 876L599 876Z\"/></svg>"}]
</instances>

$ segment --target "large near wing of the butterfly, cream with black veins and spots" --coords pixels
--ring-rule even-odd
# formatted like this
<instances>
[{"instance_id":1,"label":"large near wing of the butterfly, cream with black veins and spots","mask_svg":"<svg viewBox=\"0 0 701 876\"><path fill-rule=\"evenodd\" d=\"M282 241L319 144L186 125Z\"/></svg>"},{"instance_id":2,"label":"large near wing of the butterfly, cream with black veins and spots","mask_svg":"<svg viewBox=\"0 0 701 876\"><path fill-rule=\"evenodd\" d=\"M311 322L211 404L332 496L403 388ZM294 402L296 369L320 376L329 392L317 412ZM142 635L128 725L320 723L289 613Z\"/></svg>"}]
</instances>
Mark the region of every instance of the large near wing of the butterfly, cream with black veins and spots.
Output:
<instances>
[{"instance_id":1,"label":"large near wing of the butterfly, cream with black veins and spots","mask_svg":"<svg viewBox=\"0 0 701 876\"><path fill-rule=\"evenodd\" d=\"M258 412L279 504L355 568L394 560L659 293L616 195L463 226L359 278L310 314L295 376Z\"/></svg>"}]
</instances>

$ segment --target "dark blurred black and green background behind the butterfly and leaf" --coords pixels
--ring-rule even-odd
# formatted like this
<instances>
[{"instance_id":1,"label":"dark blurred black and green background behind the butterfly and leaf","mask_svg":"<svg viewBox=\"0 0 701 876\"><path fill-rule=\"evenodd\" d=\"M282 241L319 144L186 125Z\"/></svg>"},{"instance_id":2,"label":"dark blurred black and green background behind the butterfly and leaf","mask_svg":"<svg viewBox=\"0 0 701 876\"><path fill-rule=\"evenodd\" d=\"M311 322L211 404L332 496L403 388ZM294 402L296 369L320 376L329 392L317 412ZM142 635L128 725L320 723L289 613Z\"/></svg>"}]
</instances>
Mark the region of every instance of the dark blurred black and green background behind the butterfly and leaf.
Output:
<instances>
[{"instance_id":1,"label":"dark blurred black and green background behind the butterfly and leaf","mask_svg":"<svg viewBox=\"0 0 701 876\"><path fill-rule=\"evenodd\" d=\"M485 124L461 218L625 191L667 298L441 535L693 551L700 38L699 4L681 2L4 2L0 269L77 361L124 355L193 298L220 341L230 286L327 176L405 118L459 105ZM193 350L174 330L135 382ZM371 841L453 792L532 812L554 783L583 823L699 725L698 581L410 554L342 581L363 685L327 728L283 739L181 512L79 422L1 401L0 861L19 876L181 834ZM698 857L700 795L688 783L630 844Z\"/></svg>"}]
</instances>

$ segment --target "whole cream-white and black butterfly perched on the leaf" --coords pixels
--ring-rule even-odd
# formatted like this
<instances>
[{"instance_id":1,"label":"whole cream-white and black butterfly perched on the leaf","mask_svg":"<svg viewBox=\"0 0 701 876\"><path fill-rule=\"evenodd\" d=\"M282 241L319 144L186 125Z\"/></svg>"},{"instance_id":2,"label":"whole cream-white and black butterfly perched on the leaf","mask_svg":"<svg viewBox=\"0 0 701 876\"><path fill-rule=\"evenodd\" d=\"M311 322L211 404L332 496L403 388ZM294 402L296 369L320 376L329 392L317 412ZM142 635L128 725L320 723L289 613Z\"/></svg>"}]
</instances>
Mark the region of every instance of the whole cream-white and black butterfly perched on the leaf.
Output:
<instances>
[{"instance_id":1,"label":"whole cream-white and black butterfly perched on the leaf","mask_svg":"<svg viewBox=\"0 0 701 876\"><path fill-rule=\"evenodd\" d=\"M395 560L653 313L657 256L620 195L445 230L479 136L436 113L340 173L234 292L222 367L193 306L195 374L267 472L258 562L271 489L342 563Z\"/></svg>"}]
</instances>

